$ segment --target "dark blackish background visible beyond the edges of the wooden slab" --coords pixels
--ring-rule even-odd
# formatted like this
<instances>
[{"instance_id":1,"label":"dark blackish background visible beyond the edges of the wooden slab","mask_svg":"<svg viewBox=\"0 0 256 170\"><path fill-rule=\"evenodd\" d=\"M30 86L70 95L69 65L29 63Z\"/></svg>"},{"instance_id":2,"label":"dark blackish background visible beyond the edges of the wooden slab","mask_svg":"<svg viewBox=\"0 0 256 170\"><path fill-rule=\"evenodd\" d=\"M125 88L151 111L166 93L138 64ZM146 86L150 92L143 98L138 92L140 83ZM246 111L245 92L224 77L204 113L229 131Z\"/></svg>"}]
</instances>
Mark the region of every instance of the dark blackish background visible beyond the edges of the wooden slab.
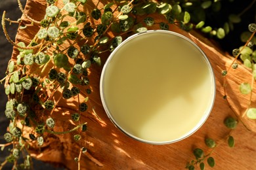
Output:
<instances>
[{"instance_id":1,"label":"dark blackish background visible beyond the edges of the wooden slab","mask_svg":"<svg viewBox=\"0 0 256 170\"><path fill-rule=\"evenodd\" d=\"M22 4L26 4L26 0L21 0ZM221 45L221 48L227 52L232 52L232 49L238 48L242 46L243 43L240 41L240 34L243 31L247 31L247 25L251 23L255 23L256 20L256 3L255 0L251 1L241 1L235 0L230 3L228 0L221 1L223 3L223 7L220 12L217 14L211 15L207 12L207 25L215 25L215 27L222 27L224 22L228 20L228 14L234 13L239 14L242 12L249 4L254 2L251 5L251 8L247 10L242 16L242 22L240 24L234 24L234 31L230 32L228 36L226 36L223 40L217 40ZM17 20L21 16L21 12L18 9L18 3L16 0L0 0L0 16L2 18L3 10L7 11L7 18L11 20ZM1 26L0 26L1 27ZM214 27L214 26L213 26ZM11 35L12 40L15 39L17 25L12 24L9 25L7 23L7 29L9 35ZM207 37L207 35L205 35ZM0 79L5 76L5 71L7 69L7 63L9 59L11 59L12 54L12 45L7 41L5 35L3 35L3 30L1 27L0 30ZM3 88L3 84L0 84L0 143L5 143L3 139L3 135L6 133L7 126L9 125L9 120L5 118L5 103L7 102L7 96L5 95L5 90ZM4 152L0 151L0 163L5 160L5 157L8 156L8 149L5 148ZM35 169L56 169L52 165L48 163L43 163L41 161L34 160ZM12 169L12 165L8 164L4 169ZM60 169L60 168L58 168ZM63 169L63 168L62 168Z\"/></svg>"}]
</instances>

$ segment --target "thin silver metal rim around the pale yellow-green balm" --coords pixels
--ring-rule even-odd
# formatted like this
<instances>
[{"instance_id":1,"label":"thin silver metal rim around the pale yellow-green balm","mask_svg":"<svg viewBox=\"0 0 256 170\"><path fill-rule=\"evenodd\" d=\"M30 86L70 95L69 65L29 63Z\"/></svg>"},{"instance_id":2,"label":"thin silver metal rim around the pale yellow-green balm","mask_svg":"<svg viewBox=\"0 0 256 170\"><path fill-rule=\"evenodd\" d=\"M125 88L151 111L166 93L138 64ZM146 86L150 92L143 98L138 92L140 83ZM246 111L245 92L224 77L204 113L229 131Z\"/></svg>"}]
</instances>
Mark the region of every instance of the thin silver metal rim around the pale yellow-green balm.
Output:
<instances>
[{"instance_id":1,"label":"thin silver metal rim around the pale yellow-green balm","mask_svg":"<svg viewBox=\"0 0 256 170\"><path fill-rule=\"evenodd\" d=\"M167 33L167 34L172 34L172 35L176 35L178 37L181 37L182 39L190 42L194 47L196 47L201 54L203 55L203 58L205 59L209 71L211 73L211 77L213 79L213 97L211 99L211 107L209 107L207 110L205 110L205 114L203 115L203 117L201 118L200 122L198 122L198 124L191 129L188 133L182 135L182 137L180 137L179 139L175 139L172 141L148 141L148 140L144 140L144 139L140 139L139 137L136 137L135 135L132 135L131 133L129 133L128 131L125 131L125 129L123 129L121 126L119 126L118 122L116 122L116 120L114 119L114 117L112 116L110 110L108 109L108 105L106 104L105 101L105 97L104 97L104 89L103 89L103 85L104 85L104 75L106 73L106 69L108 67L108 63L110 62L110 60L114 57L114 54L117 52L117 50L119 48L121 48L121 46L123 46L123 44L125 44L128 41L131 41L131 39L135 39L136 37L138 37L141 34L148 34L148 33ZM203 52L203 50L193 41L191 41L190 39L188 39L187 37L185 37L184 35L181 35L179 33L175 33L173 31L165 31L165 30L148 30L148 31L144 31L142 33L136 33L135 35L131 35L130 37L128 37L127 39L125 39L125 41L121 42L121 44L119 44L119 46L117 46L114 51L110 54L110 56L108 57L108 59L106 60L106 63L104 64L104 67L102 69L102 73L100 76L100 99L102 101L102 105L104 107L104 110L108 116L108 118L111 120L111 122L119 129L121 130L123 133L125 133L125 135L143 142L143 143L148 143L148 144L170 144L170 143L176 143L178 141L182 141L183 139L186 139L187 137L189 137L190 135L192 135L193 133L195 133L196 131L198 131L198 129L200 129L200 127L203 126L203 124L206 122L207 118L209 117L211 110L213 109L213 105L215 102L215 95L216 95L216 82L215 82L215 75L213 73L213 67L211 67L211 63L209 61L209 59L207 58L207 56L205 55L205 53Z\"/></svg>"}]
</instances>

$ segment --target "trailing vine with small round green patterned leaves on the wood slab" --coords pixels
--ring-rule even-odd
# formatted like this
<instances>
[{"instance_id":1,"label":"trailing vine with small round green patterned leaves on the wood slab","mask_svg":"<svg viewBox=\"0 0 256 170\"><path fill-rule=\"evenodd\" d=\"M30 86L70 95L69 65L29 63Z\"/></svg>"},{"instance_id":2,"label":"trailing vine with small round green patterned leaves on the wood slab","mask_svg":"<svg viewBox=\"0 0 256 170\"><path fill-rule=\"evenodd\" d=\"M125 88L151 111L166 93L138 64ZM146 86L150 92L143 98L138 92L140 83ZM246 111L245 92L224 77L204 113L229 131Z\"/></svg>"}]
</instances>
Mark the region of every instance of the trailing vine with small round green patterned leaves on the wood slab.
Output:
<instances>
[{"instance_id":1,"label":"trailing vine with small round green patterned leaves on the wood slab","mask_svg":"<svg viewBox=\"0 0 256 170\"><path fill-rule=\"evenodd\" d=\"M45 16L43 20L37 21L24 12L18 0L24 16L30 20L31 24L39 27L39 31L32 37L29 44L11 40L5 22L16 23L16 21L5 18L6 12L3 12L1 22L3 32L7 40L18 48L19 54L16 60L9 61L7 75L0 80L1 83L5 81L5 93L9 97L5 116L10 120L8 131L4 135L7 143L0 146L2 150L12 146L9 156L1 163L0 169L7 162L13 163L16 169L31 169L30 143L35 142L40 148L48 134L66 133L74 133L74 141L79 143L79 155L74 158L78 169L80 169L81 154L86 154L88 158L102 166L87 152L86 139L83 139L87 131L87 122L80 120L85 112L93 109L90 103L92 89L89 86L89 74L93 74L90 72L91 65L101 65L100 55L103 52L112 52L128 33L143 32L150 29L152 25L158 25L159 29L165 30L172 25L186 31L198 29L211 37L223 39L230 31L229 27L234 26L233 24L239 20L239 17L232 15L229 17L228 24L224 24L224 28L213 28L210 25L205 26L204 19L197 18L196 14L191 13L192 9L199 9L202 12L210 7L218 12L221 1L198 3L131 0L113 1L104 7L100 7L100 1L98 1L93 9L87 8L87 0L46 0L46 2ZM88 9L87 12L84 12L84 8ZM150 16L156 13L163 16L165 20L156 23ZM99 24L94 24L95 21ZM20 25L20 29L27 29L26 25L25 27ZM250 25L250 31L255 34L255 24ZM110 38L109 32L115 33L116 37ZM247 49L247 45L251 44L249 41L236 54L233 65L240 54L245 56L243 52ZM248 48L251 49L252 46ZM256 77L255 54L255 51L249 51L251 59L248 55L242 58L245 65L250 66L254 78ZM251 86L247 84L240 86L241 92L251 93L249 90L252 89ZM56 112L58 112L60 101L78 103L70 113L71 127L65 131L54 129L58 124ZM250 118L255 118L256 109L248 105L246 114ZM231 129L234 129L237 124L234 118L226 118L224 122L226 127ZM26 135L25 127L30 127L32 132ZM224 140L228 141L229 146L234 146L234 138L231 134ZM213 150L218 145L213 139L205 139L205 143ZM188 163L188 169L192 169L198 163L202 167L205 159L210 166L213 167L215 164L211 153L204 155L200 148L194 150L194 155L196 160ZM23 162L18 163L21 157Z\"/></svg>"}]
</instances>

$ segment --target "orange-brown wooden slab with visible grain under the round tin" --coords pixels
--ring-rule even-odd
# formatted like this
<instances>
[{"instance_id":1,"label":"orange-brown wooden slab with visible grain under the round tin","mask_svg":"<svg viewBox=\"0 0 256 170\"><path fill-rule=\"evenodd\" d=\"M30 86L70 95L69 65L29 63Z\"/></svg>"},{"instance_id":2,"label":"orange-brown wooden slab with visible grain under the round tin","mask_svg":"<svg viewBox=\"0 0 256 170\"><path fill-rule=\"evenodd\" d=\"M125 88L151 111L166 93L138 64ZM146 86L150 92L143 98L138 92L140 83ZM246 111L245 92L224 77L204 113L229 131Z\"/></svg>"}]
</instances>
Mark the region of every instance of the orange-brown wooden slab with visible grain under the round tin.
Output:
<instances>
[{"instance_id":1,"label":"orange-brown wooden slab with visible grain under the round tin","mask_svg":"<svg viewBox=\"0 0 256 170\"><path fill-rule=\"evenodd\" d=\"M94 7L93 3L91 3L91 8L93 9ZM45 0L28 0L26 4L27 14L35 20L43 18L44 10ZM24 16L23 20L26 20ZM158 18L158 20L162 19ZM158 29L158 27L153 27L152 29ZM36 26L18 30L16 41L24 41L28 44L37 30ZM175 25L171 25L170 30L181 33L196 42L205 52L213 66L217 92L215 104L208 120L196 133L178 143L152 145L135 141L121 133L106 116L99 93L102 66L94 65L90 69L91 75L89 76L90 86L93 89L93 93L90 95L90 102L91 107L95 108L95 112L101 120L94 116L95 113L91 107L81 117L81 122L87 122L88 124L87 133L82 138L82 145L87 147L88 153L87 155L82 154L81 169L184 169L186 163L194 159L192 154L194 148L203 148L206 153L210 151L203 142L205 137L211 137L219 141L230 132L224 127L223 120L226 116L234 116L234 114L223 99L223 76L221 76L221 71L230 65L232 58L227 57L217 46L199 33L194 31L187 33ZM102 63L106 61L108 55L109 53L104 53L101 56ZM16 59L16 56L17 51L14 49L12 59ZM247 95L240 95L238 85L241 82L250 82L250 77L249 71L242 66L239 66L238 69L228 75L228 97L232 101L233 109L238 112L244 111L249 98ZM254 96L255 93L253 93L253 101L255 101ZM56 127L54 127L55 131L62 131L72 127L72 122L68 120L70 119L69 110L75 107L76 103L77 99L68 101L68 103L61 101L60 105L56 107L58 113L53 115L58 117ZM58 114L63 116L58 116ZM246 118L244 118L244 122L255 131L255 122L246 120ZM215 169L256 169L256 133L253 131L247 131L240 123L232 133L236 146L229 148L226 143L223 143L213 152L212 156L216 162ZM74 158L79 154L79 143L75 143L72 135L74 134L47 135L41 152L37 147L33 147L36 145L35 143L32 143L30 151L39 160L62 163L68 169L76 169L77 163L75 163ZM95 163L97 161L93 161L94 159L98 163Z\"/></svg>"}]
</instances>

